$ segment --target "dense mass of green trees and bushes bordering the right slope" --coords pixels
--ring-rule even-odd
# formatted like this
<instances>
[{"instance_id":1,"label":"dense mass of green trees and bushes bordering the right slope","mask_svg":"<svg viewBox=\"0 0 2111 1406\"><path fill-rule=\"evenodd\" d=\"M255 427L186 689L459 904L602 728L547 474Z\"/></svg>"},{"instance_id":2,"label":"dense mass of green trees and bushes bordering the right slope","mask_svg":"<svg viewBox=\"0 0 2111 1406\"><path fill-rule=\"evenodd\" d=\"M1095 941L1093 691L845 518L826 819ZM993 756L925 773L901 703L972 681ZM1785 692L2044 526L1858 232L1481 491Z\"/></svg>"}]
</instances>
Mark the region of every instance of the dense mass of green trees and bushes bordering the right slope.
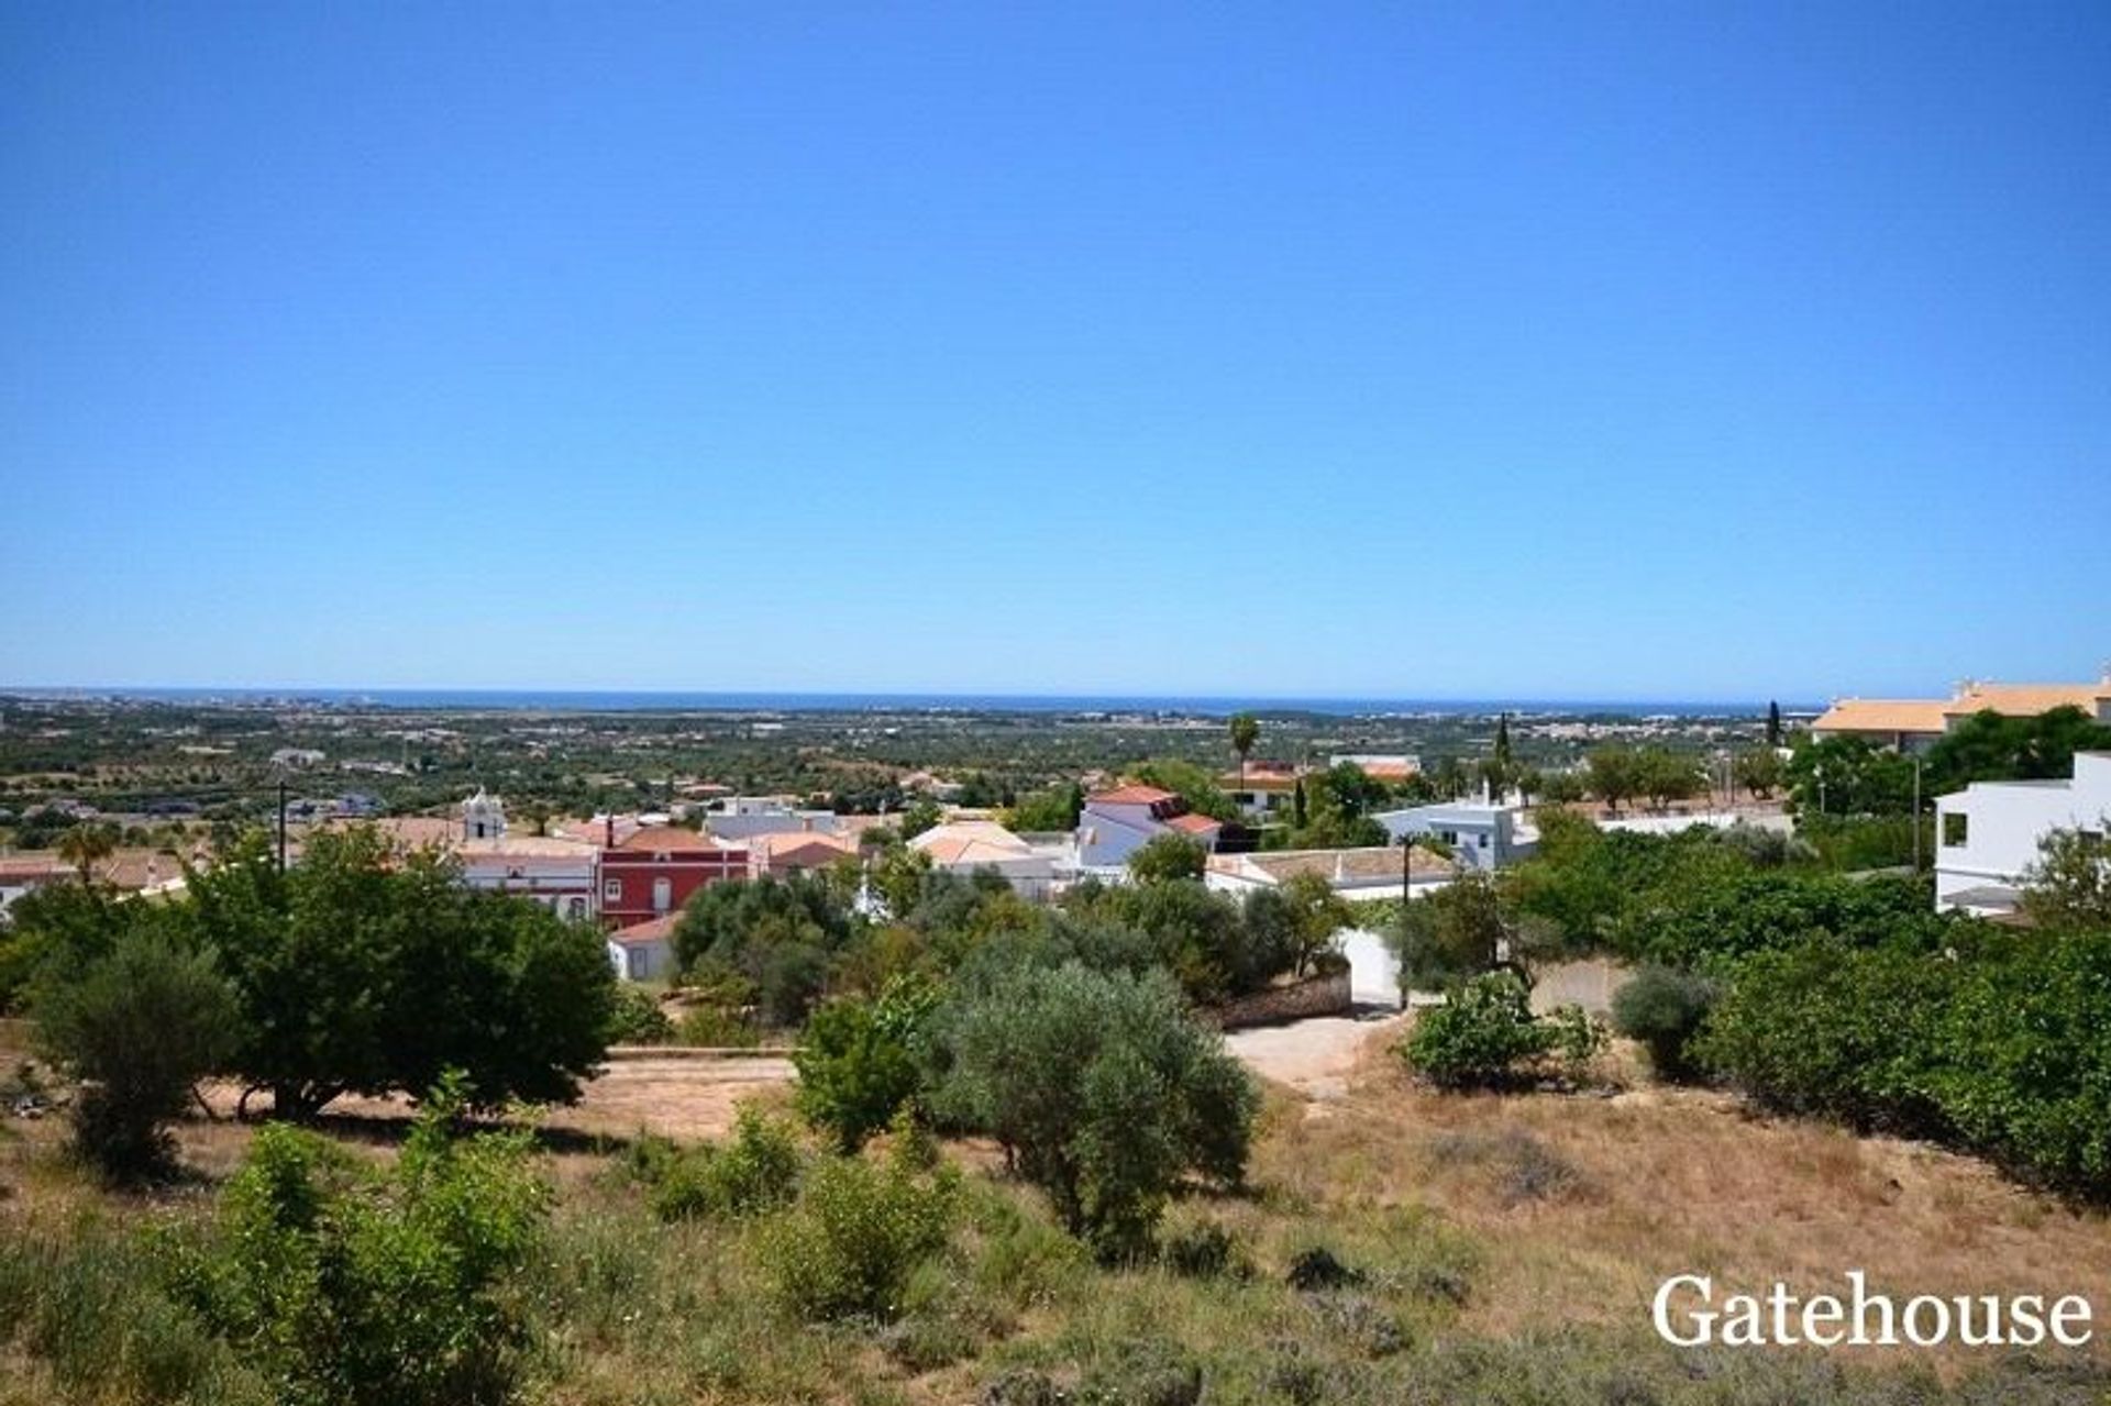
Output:
<instances>
[{"instance_id":1,"label":"dense mass of green trees and bushes bordering the right slope","mask_svg":"<svg viewBox=\"0 0 2111 1406\"><path fill-rule=\"evenodd\" d=\"M1518 969L1611 954L1638 965L1615 1024L1666 1079L1948 1142L2105 1199L2111 863L2056 834L2027 912L2031 927L1936 914L1923 878L1830 872L1752 830L1636 836L1554 819L1533 861L1402 914L1404 984L1465 996L1452 1003L1465 1013L1438 1022L1446 1043L1410 1037L1406 1056L1450 1085L1539 1072L1535 1060L1587 1039L1535 1020Z\"/></svg>"}]
</instances>

